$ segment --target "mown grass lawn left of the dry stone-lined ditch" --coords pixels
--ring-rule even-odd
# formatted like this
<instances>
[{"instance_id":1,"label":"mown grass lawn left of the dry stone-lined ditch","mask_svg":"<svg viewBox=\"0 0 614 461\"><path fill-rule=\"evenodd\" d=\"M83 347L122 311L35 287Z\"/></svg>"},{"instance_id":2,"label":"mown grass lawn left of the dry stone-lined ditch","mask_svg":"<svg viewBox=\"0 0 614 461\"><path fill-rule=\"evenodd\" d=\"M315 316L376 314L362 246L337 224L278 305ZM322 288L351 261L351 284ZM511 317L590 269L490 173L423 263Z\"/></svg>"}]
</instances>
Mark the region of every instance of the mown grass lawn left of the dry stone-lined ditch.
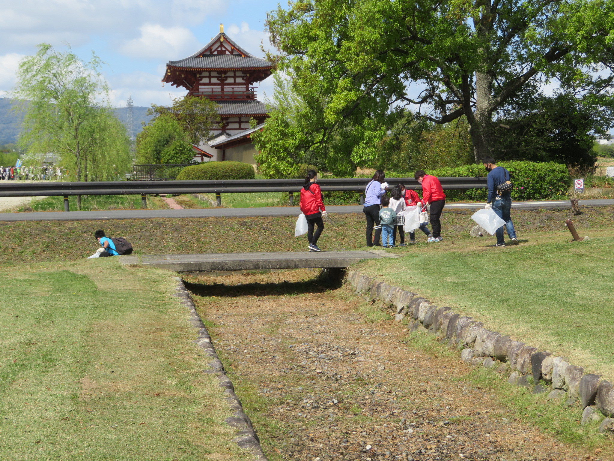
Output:
<instances>
[{"instance_id":1,"label":"mown grass lawn left of the dry stone-lined ditch","mask_svg":"<svg viewBox=\"0 0 614 461\"><path fill-rule=\"evenodd\" d=\"M169 272L0 268L0 459L251 459Z\"/></svg>"}]
</instances>

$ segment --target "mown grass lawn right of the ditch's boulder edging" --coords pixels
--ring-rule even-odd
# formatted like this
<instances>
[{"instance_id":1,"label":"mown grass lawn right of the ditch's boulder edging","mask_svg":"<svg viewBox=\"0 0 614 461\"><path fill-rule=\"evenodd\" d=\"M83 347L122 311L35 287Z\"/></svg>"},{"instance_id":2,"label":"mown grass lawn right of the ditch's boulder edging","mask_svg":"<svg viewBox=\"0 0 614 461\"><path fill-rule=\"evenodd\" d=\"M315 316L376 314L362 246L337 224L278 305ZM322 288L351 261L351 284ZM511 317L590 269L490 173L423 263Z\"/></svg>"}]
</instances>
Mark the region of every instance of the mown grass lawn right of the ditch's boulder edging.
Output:
<instances>
[{"instance_id":1,"label":"mown grass lawn right of the ditch's boulder edging","mask_svg":"<svg viewBox=\"0 0 614 461\"><path fill-rule=\"evenodd\" d=\"M520 246L485 243L494 238L402 249L403 258L362 270L614 379L614 232L581 243L563 232L531 235Z\"/></svg>"}]
</instances>

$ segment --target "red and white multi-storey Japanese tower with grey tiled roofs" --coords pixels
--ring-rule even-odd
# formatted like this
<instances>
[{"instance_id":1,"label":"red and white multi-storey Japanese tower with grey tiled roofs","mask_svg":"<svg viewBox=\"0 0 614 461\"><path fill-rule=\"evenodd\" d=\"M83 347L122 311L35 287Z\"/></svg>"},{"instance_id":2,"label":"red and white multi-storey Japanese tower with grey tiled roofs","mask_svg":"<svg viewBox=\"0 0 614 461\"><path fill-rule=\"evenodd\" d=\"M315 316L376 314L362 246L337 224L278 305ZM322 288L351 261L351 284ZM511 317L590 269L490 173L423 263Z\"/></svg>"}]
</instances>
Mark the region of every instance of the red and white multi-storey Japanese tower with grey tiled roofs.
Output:
<instances>
[{"instance_id":1,"label":"red and white multi-storey Japanese tower with grey tiled roofs","mask_svg":"<svg viewBox=\"0 0 614 461\"><path fill-rule=\"evenodd\" d=\"M267 117L266 104L256 99L254 84L271 75L271 63L252 56L239 47L223 31L203 49L179 61L169 61L163 82L188 90L187 96L200 96L216 101L222 127L214 137L201 144L210 160L236 160L254 164L255 149L249 140L254 132L251 119L263 124ZM232 138L232 139L230 139ZM209 157L196 154L202 161Z\"/></svg>"}]
</instances>

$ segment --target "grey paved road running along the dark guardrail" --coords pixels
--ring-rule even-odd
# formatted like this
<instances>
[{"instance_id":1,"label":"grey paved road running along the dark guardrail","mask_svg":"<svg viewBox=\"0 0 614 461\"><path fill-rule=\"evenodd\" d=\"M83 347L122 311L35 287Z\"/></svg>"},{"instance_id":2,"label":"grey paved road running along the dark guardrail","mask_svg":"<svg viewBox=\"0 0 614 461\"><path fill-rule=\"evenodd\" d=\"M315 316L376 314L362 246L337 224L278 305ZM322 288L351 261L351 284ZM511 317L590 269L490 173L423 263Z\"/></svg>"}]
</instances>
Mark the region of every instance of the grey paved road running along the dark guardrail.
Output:
<instances>
[{"instance_id":1,"label":"grey paved road running along the dark guardrail","mask_svg":"<svg viewBox=\"0 0 614 461\"><path fill-rule=\"evenodd\" d=\"M478 210L485 203L448 203L446 208ZM614 205L614 199L580 200L580 205L604 207ZM518 210L535 208L570 208L569 200L545 200L542 202L515 202ZM362 213L359 205L329 206L330 213ZM39 213L0 213L0 221L84 221L91 219L135 219L135 218L247 218L250 216L298 216L298 207L263 208L202 208L187 210L107 210L107 211L41 211Z\"/></svg>"}]
</instances>

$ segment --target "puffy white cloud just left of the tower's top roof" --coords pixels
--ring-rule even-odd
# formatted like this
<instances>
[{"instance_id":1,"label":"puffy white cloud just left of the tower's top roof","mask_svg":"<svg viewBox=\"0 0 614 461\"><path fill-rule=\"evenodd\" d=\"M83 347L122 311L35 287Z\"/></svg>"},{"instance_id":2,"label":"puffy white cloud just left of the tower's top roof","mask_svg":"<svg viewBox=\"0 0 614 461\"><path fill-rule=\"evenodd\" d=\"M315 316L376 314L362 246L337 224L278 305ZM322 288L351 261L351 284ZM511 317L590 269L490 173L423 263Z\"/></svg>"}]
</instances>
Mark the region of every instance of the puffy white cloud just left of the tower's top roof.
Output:
<instances>
[{"instance_id":1,"label":"puffy white cloud just left of the tower's top roof","mask_svg":"<svg viewBox=\"0 0 614 461\"><path fill-rule=\"evenodd\" d=\"M184 27L145 24L141 26L141 36L123 44L120 52L133 58L176 60L198 50L198 45L192 31Z\"/></svg>"}]
</instances>

